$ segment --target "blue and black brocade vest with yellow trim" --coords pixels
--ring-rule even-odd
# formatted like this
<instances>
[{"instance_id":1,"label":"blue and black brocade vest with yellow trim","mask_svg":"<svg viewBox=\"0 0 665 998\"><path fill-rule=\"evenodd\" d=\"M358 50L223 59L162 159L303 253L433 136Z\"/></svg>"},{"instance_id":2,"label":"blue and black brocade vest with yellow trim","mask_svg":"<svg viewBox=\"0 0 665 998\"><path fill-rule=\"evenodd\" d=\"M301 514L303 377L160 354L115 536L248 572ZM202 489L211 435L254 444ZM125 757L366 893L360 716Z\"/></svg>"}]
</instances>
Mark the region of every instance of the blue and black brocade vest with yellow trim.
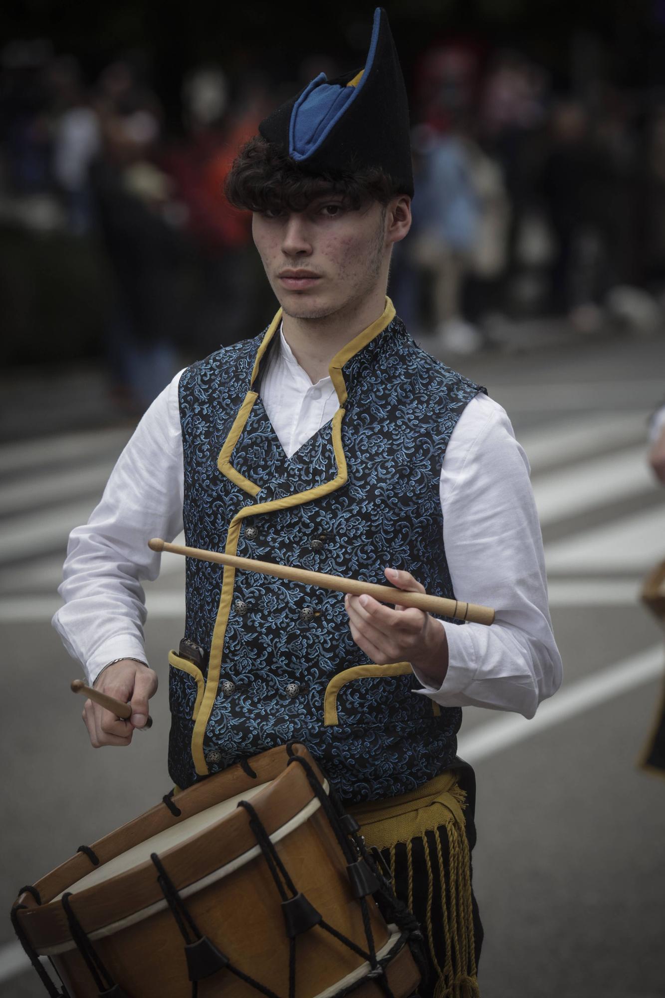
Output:
<instances>
[{"instance_id":1,"label":"blue and black brocade vest with yellow trim","mask_svg":"<svg viewBox=\"0 0 665 998\"><path fill-rule=\"evenodd\" d=\"M181 378L187 544L383 585L384 567L404 569L454 599L439 476L484 389L421 350L387 299L333 358L333 419L287 457L259 394L280 319ZM461 711L413 694L407 662L371 663L343 593L188 559L186 600L186 638L205 661L169 657L179 786L291 739L346 801L405 792L452 763Z\"/></svg>"}]
</instances>

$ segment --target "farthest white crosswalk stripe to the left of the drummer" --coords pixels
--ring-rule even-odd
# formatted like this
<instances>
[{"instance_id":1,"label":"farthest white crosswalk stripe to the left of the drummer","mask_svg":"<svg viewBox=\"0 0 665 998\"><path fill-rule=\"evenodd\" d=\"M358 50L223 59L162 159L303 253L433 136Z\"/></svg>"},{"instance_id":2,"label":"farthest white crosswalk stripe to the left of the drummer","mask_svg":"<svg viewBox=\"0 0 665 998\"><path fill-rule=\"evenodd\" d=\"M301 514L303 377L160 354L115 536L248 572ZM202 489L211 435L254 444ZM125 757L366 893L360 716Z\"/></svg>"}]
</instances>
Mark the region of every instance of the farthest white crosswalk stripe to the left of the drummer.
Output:
<instances>
[{"instance_id":1,"label":"farthest white crosswalk stripe to the left of the drummer","mask_svg":"<svg viewBox=\"0 0 665 998\"><path fill-rule=\"evenodd\" d=\"M120 456L132 432L129 428L89 430L3 444L0 446L0 468L4 473L25 471L61 461L83 461L99 457L101 453L107 453L113 461Z\"/></svg>"}]
</instances>

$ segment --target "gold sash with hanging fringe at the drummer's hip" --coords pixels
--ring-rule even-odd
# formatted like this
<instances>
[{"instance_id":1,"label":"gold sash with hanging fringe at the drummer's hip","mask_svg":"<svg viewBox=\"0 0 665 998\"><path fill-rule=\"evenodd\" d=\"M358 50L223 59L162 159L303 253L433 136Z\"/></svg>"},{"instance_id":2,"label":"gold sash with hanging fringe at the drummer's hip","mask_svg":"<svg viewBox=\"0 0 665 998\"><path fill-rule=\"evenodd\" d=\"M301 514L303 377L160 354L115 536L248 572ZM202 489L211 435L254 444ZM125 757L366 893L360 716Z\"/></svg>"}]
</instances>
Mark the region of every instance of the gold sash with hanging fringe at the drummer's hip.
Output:
<instances>
[{"instance_id":1,"label":"gold sash with hanging fringe at the drummer's hip","mask_svg":"<svg viewBox=\"0 0 665 998\"><path fill-rule=\"evenodd\" d=\"M433 998L479 998L473 941L471 876L468 842L464 833L465 793L454 772L444 772L409 793L349 808L360 825L368 848L383 853L395 887L397 845L405 847L407 897L413 910L413 843L422 842L427 870L423 929L431 966L437 975ZM446 836L448 869L444 876L441 836ZM441 885L443 939L436 945L432 910L435 904L434 869ZM417 917L417 915L416 915ZM443 966L437 952L445 953ZM454 954L454 959L453 959Z\"/></svg>"}]
</instances>

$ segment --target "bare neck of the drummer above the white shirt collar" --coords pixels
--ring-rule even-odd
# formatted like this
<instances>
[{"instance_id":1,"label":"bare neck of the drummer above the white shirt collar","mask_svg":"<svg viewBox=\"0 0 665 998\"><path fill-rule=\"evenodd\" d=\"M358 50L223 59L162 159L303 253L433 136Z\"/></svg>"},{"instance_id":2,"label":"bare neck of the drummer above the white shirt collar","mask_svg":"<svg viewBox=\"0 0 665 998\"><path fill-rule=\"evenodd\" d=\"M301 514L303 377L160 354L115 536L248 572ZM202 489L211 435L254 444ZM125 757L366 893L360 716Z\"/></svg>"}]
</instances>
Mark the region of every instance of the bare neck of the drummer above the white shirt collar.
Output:
<instances>
[{"instance_id":1,"label":"bare neck of the drummer above the white shirt collar","mask_svg":"<svg viewBox=\"0 0 665 998\"><path fill-rule=\"evenodd\" d=\"M385 292L374 293L323 318L296 318L284 314L282 331L301 367L313 384L328 377L335 353L371 325L385 308Z\"/></svg>"}]
</instances>

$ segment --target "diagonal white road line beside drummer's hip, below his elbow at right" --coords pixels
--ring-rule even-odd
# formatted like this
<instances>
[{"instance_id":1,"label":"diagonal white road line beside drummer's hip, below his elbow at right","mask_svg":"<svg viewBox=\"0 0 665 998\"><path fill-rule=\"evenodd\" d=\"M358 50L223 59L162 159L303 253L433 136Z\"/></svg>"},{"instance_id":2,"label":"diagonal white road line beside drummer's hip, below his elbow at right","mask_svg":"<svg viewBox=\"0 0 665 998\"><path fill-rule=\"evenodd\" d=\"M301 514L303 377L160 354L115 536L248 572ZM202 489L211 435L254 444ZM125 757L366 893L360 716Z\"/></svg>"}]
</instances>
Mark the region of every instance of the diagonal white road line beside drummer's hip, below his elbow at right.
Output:
<instances>
[{"instance_id":1,"label":"diagonal white road line beside drummer's hip, below his elbow at right","mask_svg":"<svg viewBox=\"0 0 665 998\"><path fill-rule=\"evenodd\" d=\"M506 714L482 725L467 736L461 735L457 749L462 758L475 763L502 749L540 735L585 711L662 676L665 653L661 645L638 652L622 662L564 687L551 700L540 705L535 718L527 721L520 715Z\"/></svg>"}]
</instances>

